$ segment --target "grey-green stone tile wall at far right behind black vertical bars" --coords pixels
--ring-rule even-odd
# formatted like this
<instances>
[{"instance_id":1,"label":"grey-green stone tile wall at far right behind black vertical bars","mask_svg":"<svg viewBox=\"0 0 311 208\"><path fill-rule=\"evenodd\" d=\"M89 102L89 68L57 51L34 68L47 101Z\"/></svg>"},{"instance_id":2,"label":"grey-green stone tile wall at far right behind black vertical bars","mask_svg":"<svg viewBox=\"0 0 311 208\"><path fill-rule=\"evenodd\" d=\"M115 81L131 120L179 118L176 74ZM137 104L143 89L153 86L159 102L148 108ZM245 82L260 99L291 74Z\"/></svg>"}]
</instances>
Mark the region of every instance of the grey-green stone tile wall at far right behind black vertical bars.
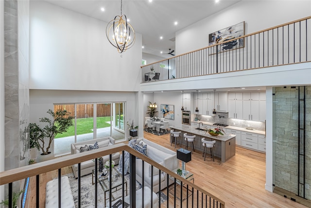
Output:
<instances>
[{"instance_id":1,"label":"grey-green stone tile wall at far right behind black vertical bars","mask_svg":"<svg viewBox=\"0 0 311 208\"><path fill-rule=\"evenodd\" d=\"M274 183L278 188L298 194L298 87L276 87L274 96ZM311 199L311 86L306 87L305 131L305 197ZM300 188L300 193L302 191Z\"/></svg>"}]
</instances>

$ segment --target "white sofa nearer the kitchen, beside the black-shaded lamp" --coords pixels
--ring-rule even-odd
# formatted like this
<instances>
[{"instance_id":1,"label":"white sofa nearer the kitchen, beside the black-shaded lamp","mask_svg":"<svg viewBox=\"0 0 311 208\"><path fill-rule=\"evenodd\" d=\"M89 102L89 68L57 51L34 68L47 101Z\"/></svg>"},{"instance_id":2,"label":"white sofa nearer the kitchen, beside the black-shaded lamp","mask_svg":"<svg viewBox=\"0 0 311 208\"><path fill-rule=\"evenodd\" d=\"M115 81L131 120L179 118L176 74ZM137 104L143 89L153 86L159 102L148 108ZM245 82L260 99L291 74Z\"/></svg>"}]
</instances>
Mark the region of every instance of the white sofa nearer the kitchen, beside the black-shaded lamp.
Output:
<instances>
[{"instance_id":1,"label":"white sofa nearer the kitchen, beside the black-shaded lamp","mask_svg":"<svg viewBox=\"0 0 311 208\"><path fill-rule=\"evenodd\" d=\"M178 168L178 160L175 151L169 150L161 145L158 145L152 141L149 141L145 138L137 139L137 144L143 141L143 143L147 144L147 156L154 160L155 162L161 164L165 168L169 170L174 170ZM148 163L144 164L144 186L147 186L151 189L151 165ZM136 180L142 184L142 160L136 158ZM161 172L161 189L167 187L167 180L169 180L169 184L173 183L173 180L167 177L166 173ZM154 167L153 171L153 191L159 191L159 170Z\"/></svg>"}]
</instances>

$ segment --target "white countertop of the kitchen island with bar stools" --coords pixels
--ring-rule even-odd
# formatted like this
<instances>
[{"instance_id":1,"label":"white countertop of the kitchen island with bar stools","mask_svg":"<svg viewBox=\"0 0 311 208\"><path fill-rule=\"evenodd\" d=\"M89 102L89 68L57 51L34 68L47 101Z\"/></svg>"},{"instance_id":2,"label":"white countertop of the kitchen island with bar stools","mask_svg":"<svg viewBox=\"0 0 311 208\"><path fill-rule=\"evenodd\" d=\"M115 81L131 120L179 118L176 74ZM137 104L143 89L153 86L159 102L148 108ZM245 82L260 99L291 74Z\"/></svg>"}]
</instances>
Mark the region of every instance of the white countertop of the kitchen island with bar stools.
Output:
<instances>
[{"instance_id":1,"label":"white countertop of the kitchen island with bar stools","mask_svg":"<svg viewBox=\"0 0 311 208\"><path fill-rule=\"evenodd\" d=\"M180 126L170 126L170 128L175 129L175 130L179 130L179 131L183 131L183 132L189 132L189 133L200 135L203 137L208 137L211 139L224 141L224 142L228 141L228 140L230 140L236 136L235 134L225 134L225 135L212 136L208 132L204 132L202 130L197 130L196 129L197 127L195 127L195 126L190 126L190 125L185 125L185 124L181 124Z\"/></svg>"}]
</instances>

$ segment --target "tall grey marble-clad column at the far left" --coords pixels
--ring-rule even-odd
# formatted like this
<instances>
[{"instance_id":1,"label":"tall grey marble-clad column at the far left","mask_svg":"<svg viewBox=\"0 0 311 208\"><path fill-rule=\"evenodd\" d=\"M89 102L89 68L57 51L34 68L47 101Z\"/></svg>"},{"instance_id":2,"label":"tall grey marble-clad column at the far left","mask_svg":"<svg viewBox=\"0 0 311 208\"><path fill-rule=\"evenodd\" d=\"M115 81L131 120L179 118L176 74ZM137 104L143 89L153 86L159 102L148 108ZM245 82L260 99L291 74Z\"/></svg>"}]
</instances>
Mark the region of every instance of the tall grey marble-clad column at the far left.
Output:
<instances>
[{"instance_id":1,"label":"tall grey marble-clad column at the far left","mask_svg":"<svg viewBox=\"0 0 311 208\"><path fill-rule=\"evenodd\" d=\"M28 164L29 0L4 0L5 170Z\"/></svg>"}]
</instances>

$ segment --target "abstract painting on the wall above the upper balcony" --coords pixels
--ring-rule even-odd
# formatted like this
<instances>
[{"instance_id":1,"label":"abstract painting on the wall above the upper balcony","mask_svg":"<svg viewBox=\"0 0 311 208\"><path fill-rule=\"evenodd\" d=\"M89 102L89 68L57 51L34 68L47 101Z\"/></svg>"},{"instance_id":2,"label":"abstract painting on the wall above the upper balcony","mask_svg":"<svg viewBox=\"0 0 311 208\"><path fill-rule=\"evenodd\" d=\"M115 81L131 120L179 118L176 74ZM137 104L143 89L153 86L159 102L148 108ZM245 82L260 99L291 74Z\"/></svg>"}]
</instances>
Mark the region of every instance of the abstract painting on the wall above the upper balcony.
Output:
<instances>
[{"instance_id":1,"label":"abstract painting on the wall above the upper balcony","mask_svg":"<svg viewBox=\"0 0 311 208\"><path fill-rule=\"evenodd\" d=\"M244 21L209 34L208 45L215 45L216 43L225 42L227 40L242 36L244 36ZM218 52L224 52L226 50L238 49L242 47L244 47L243 38L226 42L225 44L220 44ZM214 50L214 53L216 53L216 49Z\"/></svg>"}]
</instances>

